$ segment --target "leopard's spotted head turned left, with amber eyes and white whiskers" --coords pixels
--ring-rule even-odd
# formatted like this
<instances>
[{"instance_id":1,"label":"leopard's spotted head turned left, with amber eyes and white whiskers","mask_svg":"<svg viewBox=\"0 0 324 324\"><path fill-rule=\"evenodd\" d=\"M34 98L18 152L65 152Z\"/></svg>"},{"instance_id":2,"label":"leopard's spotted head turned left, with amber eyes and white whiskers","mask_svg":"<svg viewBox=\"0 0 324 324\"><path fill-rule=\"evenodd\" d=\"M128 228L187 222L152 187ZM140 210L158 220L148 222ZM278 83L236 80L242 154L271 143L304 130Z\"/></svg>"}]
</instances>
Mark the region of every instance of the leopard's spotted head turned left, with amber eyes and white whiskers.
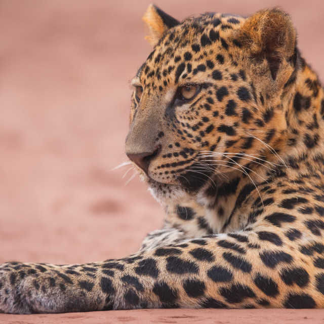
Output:
<instances>
[{"instance_id":1,"label":"leopard's spotted head turned left, with amber eyes and white whiskers","mask_svg":"<svg viewBox=\"0 0 324 324\"><path fill-rule=\"evenodd\" d=\"M295 37L289 28L282 33L285 17L270 30L289 39L279 44L275 36L260 41L242 17L179 23L150 8L154 50L132 80L126 153L153 195L170 202L250 166L267 154L264 143L280 145L287 128L280 96L294 74Z\"/></svg>"}]
</instances>

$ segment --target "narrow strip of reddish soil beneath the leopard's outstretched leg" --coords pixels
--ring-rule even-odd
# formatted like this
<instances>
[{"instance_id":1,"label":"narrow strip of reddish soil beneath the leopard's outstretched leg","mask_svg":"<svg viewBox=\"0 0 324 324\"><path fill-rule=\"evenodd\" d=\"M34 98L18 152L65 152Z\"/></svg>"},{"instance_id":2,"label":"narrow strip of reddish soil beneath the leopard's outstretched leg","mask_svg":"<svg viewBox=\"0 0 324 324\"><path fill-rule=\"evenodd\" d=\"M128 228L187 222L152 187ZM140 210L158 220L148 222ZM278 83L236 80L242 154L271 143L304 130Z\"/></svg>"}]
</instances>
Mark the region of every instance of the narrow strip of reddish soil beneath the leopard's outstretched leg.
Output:
<instances>
[{"instance_id":1,"label":"narrow strip of reddish soil beneath the leopard's outstretched leg","mask_svg":"<svg viewBox=\"0 0 324 324\"><path fill-rule=\"evenodd\" d=\"M204 324L322 324L322 310L313 309L140 309L113 310L91 313L66 313L50 315L3 315L12 324L116 324L116 323L204 323Z\"/></svg>"}]
</instances>

